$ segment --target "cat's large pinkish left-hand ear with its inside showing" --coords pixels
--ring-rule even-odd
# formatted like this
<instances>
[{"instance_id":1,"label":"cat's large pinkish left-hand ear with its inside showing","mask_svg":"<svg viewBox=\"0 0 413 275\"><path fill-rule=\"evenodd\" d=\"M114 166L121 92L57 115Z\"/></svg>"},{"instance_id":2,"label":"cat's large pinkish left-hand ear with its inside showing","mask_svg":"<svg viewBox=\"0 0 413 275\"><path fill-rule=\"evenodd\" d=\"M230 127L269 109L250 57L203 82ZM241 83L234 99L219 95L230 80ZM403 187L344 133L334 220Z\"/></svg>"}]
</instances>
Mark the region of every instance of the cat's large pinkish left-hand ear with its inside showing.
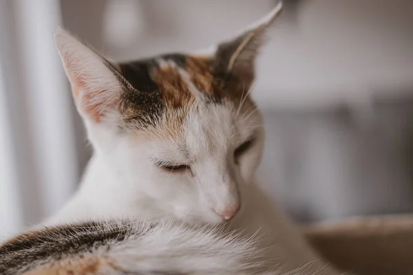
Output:
<instances>
[{"instance_id":1,"label":"cat's large pinkish left-hand ear with its inside showing","mask_svg":"<svg viewBox=\"0 0 413 275\"><path fill-rule=\"evenodd\" d=\"M54 32L79 113L100 123L108 113L118 110L126 80L114 65L65 30Z\"/></svg>"}]
</instances>

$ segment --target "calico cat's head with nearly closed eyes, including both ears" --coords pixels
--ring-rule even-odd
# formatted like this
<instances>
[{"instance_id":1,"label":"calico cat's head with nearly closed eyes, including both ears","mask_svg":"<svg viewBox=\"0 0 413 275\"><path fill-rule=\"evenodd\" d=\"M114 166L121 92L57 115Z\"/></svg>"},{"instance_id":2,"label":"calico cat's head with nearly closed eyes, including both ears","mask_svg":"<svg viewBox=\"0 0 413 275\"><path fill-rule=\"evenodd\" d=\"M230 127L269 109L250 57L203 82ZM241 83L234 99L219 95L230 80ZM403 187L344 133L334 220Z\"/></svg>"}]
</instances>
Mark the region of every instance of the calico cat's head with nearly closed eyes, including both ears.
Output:
<instances>
[{"instance_id":1,"label":"calico cat's head with nearly closed eyes, including both ears","mask_svg":"<svg viewBox=\"0 0 413 275\"><path fill-rule=\"evenodd\" d=\"M125 190L125 202L114 203L131 206L145 194L180 218L218 223L237 214L264 140L249 96L255 58L280 10L209 54L129 63L108 61L56 31L89 140L118 175L114 188Z\"/></svg>"}]
</instances>

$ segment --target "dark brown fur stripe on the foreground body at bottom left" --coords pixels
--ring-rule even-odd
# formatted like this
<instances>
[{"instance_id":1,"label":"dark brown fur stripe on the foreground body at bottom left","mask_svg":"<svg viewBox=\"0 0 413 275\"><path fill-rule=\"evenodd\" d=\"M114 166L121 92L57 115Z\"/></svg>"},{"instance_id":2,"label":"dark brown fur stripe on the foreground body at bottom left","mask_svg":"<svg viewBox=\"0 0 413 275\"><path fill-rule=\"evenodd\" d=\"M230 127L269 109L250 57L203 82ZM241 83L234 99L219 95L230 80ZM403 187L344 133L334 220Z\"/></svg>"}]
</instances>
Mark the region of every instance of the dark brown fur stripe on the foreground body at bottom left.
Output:
<instances>
[{"instance_id":1,"label":"dark brown fur stripe on the foreground body at bottom left","mask_svg":"<svg viewBox=\"0 0 413 275\"><path fill-rule=\"evenodd\" d=\"M123 241L132 230L127 224L114 226L107 230L100 223L84 223L21 234L0 245L0 274L27 272L45 261L70 258L109 241Z\"/></svg>"}]
</instances>

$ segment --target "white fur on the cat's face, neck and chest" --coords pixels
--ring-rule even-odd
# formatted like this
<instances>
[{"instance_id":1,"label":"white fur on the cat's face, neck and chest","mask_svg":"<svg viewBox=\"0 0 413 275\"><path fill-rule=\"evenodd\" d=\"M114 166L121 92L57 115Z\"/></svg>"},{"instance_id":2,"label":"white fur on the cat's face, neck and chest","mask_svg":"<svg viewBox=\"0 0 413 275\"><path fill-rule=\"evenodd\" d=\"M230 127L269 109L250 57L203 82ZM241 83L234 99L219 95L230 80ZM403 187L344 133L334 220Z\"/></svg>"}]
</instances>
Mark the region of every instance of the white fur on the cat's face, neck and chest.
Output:
<instances>
[{"instance_id":1,"label":"white fur on the cat's face, neck and chest","mask_svg":"<svg viewBox=\"0 0 413 275\"><path fill-rule=\"evenodd\" d=\"M268 23L280 8L277 6L264 23ZM65 34L58 34L57 39L61 52L63 49L63 63L67 64L66 56L76 52L85 64L79 63L81 67L74 67L75 72L94 68L86 74L98 75L98 80L92 81L91 85L104 84L111 87L109 93L113 91L116 95L118 91L113 77L107 76L109 70L96 63L98 59L94 53L67 39ZM66 66L69 76L74 73L71 70ZM190 82L189 78L184 79ZM189 87L195 88L194 85ZM193 90L195 94L198 92ZM107 99L111 100L111 96L97 100ZM169 140L158 136L142 139L120 135L109 122L95 123L84 115L89 140L95 149L94 156L76 195L47 223L162 217L218 224L223 221L217 212L241 205L240 213L230 221L231 225L243 230L247 236L261 232L262 247L275 247L270 253L271 258L279 259L291 268L313 263L308 267L309 272L324 268L325 263L318 261L319 257L306 244L299 230L255 184L255 171L264 143L262 118L259 112L238 113L238 109L229 101L224 104L200 103L187 114L184 135ZM112 115L116 117L116 112ZM254 145L236 164L235 148L251 135L255 135ZM167 173L155 166L153 159L189 164L192 173Z\"/></svg>"}]
</instances>

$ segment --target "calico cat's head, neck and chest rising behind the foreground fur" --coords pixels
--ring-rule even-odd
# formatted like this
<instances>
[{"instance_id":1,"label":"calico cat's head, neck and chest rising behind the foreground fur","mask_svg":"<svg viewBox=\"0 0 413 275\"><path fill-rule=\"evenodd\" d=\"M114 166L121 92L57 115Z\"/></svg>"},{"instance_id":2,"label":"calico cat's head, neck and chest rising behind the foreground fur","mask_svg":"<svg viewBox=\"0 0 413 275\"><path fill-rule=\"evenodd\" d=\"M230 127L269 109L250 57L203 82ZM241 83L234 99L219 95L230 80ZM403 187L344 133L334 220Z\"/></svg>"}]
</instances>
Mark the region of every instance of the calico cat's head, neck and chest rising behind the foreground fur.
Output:
<instances>
[{"instance_id":1,"label":"calico cat's head, neck and chest rising behind the foreground fur","mask_svg":"<svg viewBox=\"0 0 413 275\"><path fill-rule=\"evenodd\" d=\"M288 268L316 252L255 182L264 146L251 99L255 59L282 4L204 52L118 63L64 30L54 35L94 148L79 190L45 225L99 219L184 220L262 234ZM277 246L275 246L277 245ZM328 273L330 272L330 273ZM326 274L336 274L332 267Z\"/></svg>"}]
</instances>

